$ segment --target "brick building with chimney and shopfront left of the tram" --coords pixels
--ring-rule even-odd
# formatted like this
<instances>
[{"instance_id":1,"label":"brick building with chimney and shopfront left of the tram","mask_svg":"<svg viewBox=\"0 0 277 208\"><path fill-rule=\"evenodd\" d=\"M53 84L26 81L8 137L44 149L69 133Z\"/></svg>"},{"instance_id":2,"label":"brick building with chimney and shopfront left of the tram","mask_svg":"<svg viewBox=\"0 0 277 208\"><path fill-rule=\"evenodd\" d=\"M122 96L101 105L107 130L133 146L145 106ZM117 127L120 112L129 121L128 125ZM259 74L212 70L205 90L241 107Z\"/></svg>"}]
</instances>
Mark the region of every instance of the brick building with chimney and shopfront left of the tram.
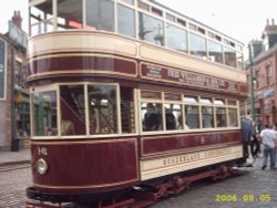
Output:
<instances>
[{"instance_id":1,"label":"brick building with chimney and shopfront left of the tram","mask_svg":"<svg viewBox=\"0 0 277 208\"><path fill-rule=\"evenodd\" d=\"M16 11L9 31L0 33L0 150L28 146L30 135L29 93L24 89L27 33Z\"/></svg>"}]
</instances>

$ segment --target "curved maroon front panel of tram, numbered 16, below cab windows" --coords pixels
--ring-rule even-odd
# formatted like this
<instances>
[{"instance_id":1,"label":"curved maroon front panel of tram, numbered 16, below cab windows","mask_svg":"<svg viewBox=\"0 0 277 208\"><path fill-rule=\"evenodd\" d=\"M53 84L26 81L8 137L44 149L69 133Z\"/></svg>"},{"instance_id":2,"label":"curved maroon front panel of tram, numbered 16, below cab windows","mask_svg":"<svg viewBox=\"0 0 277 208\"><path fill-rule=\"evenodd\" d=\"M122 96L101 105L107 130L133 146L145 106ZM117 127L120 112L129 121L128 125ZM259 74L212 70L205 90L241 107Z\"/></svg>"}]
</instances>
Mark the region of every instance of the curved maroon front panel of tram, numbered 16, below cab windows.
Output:
<instances>
[{"instance_id":1,"label":"curved maroon front panel of tram, numbered 16, below cab windows","mask_svg":"<svg viewBox=\"0 0 277 208\"><path fill-rule=\"evenodd\" d=\"M92 194L138 183L135 138L32 142L31 150L33 167L42 159L47 164L44 174L33 169L34 187L39 190Z\"/></svg>"}]
</instances>

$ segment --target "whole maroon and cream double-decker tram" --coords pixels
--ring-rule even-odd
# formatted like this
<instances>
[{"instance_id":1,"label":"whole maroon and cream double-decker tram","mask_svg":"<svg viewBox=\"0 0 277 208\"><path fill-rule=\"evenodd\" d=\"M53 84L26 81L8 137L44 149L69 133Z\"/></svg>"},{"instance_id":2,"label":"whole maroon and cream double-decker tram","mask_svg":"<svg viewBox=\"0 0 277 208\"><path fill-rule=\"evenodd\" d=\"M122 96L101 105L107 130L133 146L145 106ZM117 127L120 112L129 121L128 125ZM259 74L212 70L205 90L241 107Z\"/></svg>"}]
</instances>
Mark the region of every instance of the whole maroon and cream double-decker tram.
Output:
<instances>
[{"instance_id":1,"label":"whole maroon and cream double-decker tram","mask_svg":"<svg viewBox=\"0 0 277 208\"><path fill-rule=\"evenodd\" d=\"M155 1L30 0L29 12L29 207L126 206L132 189L155 200L234 173L243 43Z\"/></svg>"}]
</instances>

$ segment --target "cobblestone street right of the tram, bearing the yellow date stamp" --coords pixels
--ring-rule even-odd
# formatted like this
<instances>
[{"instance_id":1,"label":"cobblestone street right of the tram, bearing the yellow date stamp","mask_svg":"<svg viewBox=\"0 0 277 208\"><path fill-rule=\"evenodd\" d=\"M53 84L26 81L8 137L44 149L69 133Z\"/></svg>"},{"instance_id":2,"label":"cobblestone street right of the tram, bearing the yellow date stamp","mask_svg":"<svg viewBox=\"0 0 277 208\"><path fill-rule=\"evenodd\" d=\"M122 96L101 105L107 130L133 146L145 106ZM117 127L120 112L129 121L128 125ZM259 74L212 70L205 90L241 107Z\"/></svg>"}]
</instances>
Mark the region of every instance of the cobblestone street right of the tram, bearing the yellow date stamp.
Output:
<instances>
[{"instance_id":1,"label":"cobblestone street right of the tram, bearing the yellow date stamp","mask_svg":"<svg viewBox=\"0 0 277 208\"><path fill-rule=\"evenodd\" d=\"M277 171L261 170L260 159L247 174L220 183L198 183L152 208L277 208Z\"/></svg>"}]
</instances>

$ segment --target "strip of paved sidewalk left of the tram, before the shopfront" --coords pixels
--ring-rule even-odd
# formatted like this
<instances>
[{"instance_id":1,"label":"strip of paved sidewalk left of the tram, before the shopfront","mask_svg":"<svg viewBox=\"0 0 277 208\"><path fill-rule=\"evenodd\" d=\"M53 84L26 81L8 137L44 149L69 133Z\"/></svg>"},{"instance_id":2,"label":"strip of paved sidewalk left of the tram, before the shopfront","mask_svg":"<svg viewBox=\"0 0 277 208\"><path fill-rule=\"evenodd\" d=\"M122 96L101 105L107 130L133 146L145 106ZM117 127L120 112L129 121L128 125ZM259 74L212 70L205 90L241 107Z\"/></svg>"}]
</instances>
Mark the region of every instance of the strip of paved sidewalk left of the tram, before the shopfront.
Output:
<instances>
[{"instance_id":1,"label":"strip of paved sidewalk left of the tram, before the shopfront","mask_svg":"<svg viewBox=\"0 0 277 208\"><path fill-rule=\"evenodd\" d=\"M0 152L0 166L10 164L27 164L31 160L30 148L20 149L19 152Z\"/></svg>"}]
</instances>

